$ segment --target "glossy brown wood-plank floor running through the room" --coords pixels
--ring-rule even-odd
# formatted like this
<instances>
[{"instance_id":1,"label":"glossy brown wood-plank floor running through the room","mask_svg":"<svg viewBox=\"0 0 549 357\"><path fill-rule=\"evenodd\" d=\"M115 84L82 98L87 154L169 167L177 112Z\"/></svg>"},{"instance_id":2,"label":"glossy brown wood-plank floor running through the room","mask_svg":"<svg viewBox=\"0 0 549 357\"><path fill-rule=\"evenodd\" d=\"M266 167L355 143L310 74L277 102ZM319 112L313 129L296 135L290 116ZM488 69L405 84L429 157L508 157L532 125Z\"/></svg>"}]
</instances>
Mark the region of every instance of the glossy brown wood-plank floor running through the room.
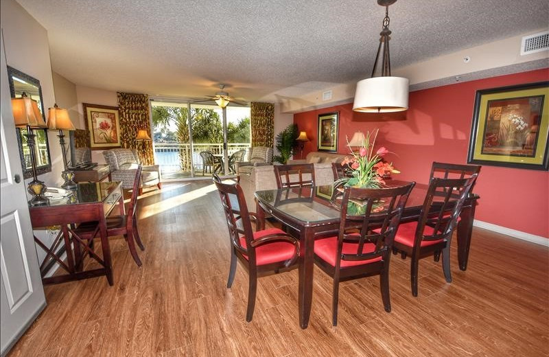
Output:
<instances>
[{"instance_id":1,"label":"glossy brown wood-plank floor running through the room","mask_svg":"<svg viewBox=\"0 0 549 357\"><path fill-rule=\"evenodd\" d=\"M112 241L115 286L99 277L46 286L47 308L9 356L548 356L549 253L474 229L469 266L452 284L441 263L393 255L392 312L377 277L340 285L331 326L331 278L315 268L309 328L299 328L297 270L261 277L246 323L247 275L226 288L229 238L210 181L166 183L139 198L146 250L139 268ZM97 244L99 245L99 244ZM98 246L97 250L100 249Z\"/></svg>"}]
</instances>

